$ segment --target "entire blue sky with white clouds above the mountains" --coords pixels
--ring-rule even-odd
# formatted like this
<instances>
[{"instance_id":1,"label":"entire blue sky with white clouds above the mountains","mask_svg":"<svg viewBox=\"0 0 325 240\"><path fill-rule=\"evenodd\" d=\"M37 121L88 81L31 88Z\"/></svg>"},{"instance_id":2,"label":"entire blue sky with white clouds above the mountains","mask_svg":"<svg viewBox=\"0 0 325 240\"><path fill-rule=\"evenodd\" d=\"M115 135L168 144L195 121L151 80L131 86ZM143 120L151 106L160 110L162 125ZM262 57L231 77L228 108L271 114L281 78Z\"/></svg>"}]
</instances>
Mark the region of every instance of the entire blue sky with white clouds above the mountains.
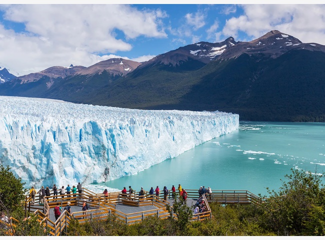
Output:
<instances>
[{"instance_id":1,"label":"entire blue sky with white clouds above the mountains","mask_svg":"<svg viewBox=\"0 0 325 240\"><path fill-rule=\"evenodd\" d=\"M27 2L0 1L0 66L15 75L54 65L90 66L112 57L144 61L194 42L219 42L229 36L250 41L273 29L302 42L325 44L325 4L312 0Z\"/></svg>"}]
</instances>

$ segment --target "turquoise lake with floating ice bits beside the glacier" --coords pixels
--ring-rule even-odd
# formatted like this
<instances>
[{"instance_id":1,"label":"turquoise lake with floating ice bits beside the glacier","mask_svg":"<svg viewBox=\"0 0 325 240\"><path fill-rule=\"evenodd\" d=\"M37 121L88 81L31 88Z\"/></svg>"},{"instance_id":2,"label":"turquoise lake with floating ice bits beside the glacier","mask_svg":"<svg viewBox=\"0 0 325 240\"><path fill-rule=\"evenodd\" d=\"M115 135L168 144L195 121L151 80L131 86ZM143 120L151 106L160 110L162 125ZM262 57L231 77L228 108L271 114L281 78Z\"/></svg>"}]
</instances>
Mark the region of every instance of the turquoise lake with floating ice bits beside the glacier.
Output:
<instances>
[{"instance_id":1,"label":"turquoise lake with floating ice bits beside the glacier","mask_svg":"<svg viewBox=\"0 0 325 240\"><path fill-rule=\"evenodd\" d=\"M231 133L200 144L135 175L97 185L149 190L180 183L186 189L248 190L267 195L292 169L325 172L325 123L240 121Z\"/></svg>"}]
</instances>

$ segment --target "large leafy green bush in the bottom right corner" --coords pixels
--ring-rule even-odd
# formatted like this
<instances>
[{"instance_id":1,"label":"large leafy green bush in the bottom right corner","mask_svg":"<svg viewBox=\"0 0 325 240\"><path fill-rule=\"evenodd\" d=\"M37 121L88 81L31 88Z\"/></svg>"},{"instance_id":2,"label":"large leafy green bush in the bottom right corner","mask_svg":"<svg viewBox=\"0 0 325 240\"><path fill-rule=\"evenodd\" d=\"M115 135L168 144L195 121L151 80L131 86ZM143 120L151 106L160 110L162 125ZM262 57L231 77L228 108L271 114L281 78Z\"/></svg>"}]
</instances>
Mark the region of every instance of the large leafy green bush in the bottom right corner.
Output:
<instances>
[{"instance_id":1,"label":"large leafy green bush in the bottom right corner","mask_svg":"<svg viewBox=\"0 0 325 240\"><path fill-rule=\"evenodd\" d=\"M261 224L278 235L323 235L323 175L292 170L285 177L288 181L282 181L278 191L267 188L269 197L261 204Z\"/></svg>"}]
</instances>

